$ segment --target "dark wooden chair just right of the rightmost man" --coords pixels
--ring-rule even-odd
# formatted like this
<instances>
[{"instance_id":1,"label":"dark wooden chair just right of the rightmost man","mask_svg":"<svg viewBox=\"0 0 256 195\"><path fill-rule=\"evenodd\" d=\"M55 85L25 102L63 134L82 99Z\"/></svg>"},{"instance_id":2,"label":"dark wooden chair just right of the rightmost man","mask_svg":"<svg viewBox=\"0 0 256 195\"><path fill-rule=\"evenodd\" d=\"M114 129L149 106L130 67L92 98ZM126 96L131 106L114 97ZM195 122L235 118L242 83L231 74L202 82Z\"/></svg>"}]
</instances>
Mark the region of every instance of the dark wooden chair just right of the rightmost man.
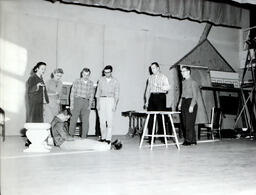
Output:
<instances>
[{"instance_id":1,"label":"dark wooden chair just right of the rightmost man","mask_svg":"<svg viewBox=\"0 0 256 195\"><path fill-rule=\"evenodd\" d=\"M222 112L220 108L213 107L211 109L210 123L198 125L198 140L201 139L201 134L207 135L207 138L214 140L214 135L217 133L221 139Z\"/></svg>"}]
</instances>

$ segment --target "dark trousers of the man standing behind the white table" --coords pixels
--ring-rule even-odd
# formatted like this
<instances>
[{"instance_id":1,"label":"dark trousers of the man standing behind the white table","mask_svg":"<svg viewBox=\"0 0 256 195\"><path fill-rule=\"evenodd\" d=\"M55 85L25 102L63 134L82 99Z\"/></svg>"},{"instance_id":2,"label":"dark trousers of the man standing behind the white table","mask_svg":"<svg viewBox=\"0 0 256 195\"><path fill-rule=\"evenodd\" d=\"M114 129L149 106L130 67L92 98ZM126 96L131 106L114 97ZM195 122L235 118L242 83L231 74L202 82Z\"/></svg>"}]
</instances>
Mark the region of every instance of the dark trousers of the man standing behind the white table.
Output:
<instances>
[{"instance_id":1,"label":"dark trousers of the man standing behind the white table","mask_svg":"<svg viewBox=\"0 0 256 195\"><path fill-rule=\"evenodd\" d=\"M148 111L165 111L166 95L165 93L151 93L148 101ZM148 134L152 134L154 116L150 115L148 121ZM161 115L157 115L158 134L163 134L163 123Z\"/></svg>"}]
</instances>

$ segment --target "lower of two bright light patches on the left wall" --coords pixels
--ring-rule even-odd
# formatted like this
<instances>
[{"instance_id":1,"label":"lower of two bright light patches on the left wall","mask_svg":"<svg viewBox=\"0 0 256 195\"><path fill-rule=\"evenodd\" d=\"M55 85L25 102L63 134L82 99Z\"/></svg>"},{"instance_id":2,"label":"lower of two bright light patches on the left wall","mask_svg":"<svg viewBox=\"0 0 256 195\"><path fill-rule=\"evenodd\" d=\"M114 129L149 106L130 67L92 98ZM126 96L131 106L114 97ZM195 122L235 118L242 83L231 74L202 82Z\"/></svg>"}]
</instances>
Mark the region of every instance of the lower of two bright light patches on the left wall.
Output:
<instances>
[{"instance_id":1,"label":"lower of two bright light patches on the left wall","mask_svg":"<svg viewBox=\"0 0 256 195\"><path fill-rule=\"evenodd\" d=\"M25 105L25 83L16 78L2 74L4 82L0 87L3 89L3 105L5 111L18 113Z\"/></svg>"}]
</instances>

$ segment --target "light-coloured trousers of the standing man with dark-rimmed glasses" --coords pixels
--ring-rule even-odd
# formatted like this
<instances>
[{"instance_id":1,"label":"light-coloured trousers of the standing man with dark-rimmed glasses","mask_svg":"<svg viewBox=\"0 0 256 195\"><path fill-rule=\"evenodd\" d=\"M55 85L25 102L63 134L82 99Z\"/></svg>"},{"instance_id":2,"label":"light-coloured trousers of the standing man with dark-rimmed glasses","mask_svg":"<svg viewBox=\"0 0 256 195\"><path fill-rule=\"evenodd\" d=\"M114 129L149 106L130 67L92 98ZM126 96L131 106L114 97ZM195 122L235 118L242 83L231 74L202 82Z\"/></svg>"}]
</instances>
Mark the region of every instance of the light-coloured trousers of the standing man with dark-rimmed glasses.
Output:
<instances>
[{"instance_id":1,"label":"light-coloured trousers of the standing man with dark-rimmed glasses","mask_svg":"<svg viewBox=\"0 0 256 195\"><path fill-rule=\"evenodd\" d=\"M100 97L99 101L100 110L98 112L100 118L101 139L111 140L114 98Z\"/></svg>"}]
</instances>

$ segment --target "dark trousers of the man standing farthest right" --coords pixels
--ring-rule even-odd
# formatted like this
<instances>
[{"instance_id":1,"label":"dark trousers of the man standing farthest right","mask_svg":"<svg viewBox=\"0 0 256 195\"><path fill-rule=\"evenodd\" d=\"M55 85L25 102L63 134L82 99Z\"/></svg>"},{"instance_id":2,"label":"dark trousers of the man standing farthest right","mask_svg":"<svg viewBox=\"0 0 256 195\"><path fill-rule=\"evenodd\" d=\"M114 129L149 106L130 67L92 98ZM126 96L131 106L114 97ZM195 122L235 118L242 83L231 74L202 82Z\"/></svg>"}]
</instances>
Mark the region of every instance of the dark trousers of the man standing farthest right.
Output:
<instances>
[{"instance_id":1,"label":"dark trousers of the man standing farthest right","mask_svg":"<svg viewBox=\"0 0 256 195\"><path fill-rule=\"evenodd\" d=\"M184 141L196 142L195 121L197 113L197 104L194 106L193 112L189 112L189 106L192 98L182 98L181 103L181 122Z\"/></svg>"}]
</instances>

